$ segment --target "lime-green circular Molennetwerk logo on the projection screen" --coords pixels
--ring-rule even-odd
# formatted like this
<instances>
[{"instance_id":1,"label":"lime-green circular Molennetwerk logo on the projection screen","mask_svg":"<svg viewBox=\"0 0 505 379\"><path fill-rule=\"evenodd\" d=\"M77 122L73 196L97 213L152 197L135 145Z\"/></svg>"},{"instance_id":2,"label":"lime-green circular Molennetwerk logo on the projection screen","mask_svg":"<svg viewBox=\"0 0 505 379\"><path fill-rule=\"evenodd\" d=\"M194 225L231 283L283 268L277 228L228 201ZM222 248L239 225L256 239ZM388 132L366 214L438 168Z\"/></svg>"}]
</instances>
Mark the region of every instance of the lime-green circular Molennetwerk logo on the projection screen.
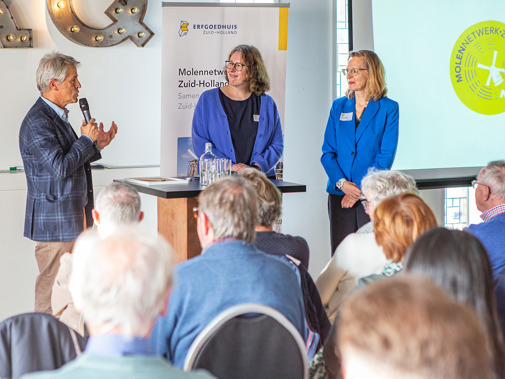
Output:
<instances>
[{"instance_id":1,"label":"lime-green circular Molennetwerk logo on the projection screen","mask_svg":"<svg viewBox=\"0 0 505 379\"><path fill-rule=\"evenodd\" d=\"M472 111L505 112L505 24L483 21L466 29L451 54L451 82Z\"/></svg>"}]
</instances>

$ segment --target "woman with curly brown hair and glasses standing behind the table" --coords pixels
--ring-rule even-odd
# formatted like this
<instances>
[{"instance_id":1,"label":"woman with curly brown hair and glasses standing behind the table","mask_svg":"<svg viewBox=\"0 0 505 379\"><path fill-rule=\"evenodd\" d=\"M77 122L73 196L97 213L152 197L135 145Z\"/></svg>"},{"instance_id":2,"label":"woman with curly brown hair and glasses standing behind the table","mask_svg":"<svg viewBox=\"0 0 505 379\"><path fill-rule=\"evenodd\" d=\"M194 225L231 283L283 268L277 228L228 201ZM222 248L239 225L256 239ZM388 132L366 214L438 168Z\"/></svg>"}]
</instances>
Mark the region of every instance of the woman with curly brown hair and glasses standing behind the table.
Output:
<instances>
[{"instance_id":1,"label":"woman with curly brown hair and glasses standing behind the table","mask_svg":"<svg viewBox=\"0 0 505 379\"><path fill-rule=\"evenodd\" d=\"M228 84L205 91L193 115L192 140L200 156L205 144L212 152L233 162L240 172L255 167L267 176L275 176L275 165L282 156L282 127L270 89L263 58L257 48L235 47L225 61Z\"/></svg>"}]
</instances>

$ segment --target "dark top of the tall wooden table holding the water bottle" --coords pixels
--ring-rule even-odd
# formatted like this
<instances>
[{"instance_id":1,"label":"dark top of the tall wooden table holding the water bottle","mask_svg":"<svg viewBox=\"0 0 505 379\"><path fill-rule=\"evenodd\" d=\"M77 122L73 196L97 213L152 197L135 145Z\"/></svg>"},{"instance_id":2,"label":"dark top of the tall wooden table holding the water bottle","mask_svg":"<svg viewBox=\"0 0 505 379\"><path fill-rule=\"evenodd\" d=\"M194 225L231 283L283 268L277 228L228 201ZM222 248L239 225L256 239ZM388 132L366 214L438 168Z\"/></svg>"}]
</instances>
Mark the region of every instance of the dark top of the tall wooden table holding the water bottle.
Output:
<instances>
[{"instance_id":1,"label":"dark top of the tall wooden table holding the water bottle","mask_svg":"<svg viewBox=\"0 0 505 379\"><path fill-rule=\"evenodd\" d=\"M141 193L161 197L163 199L197 197L198 194L202 190L204 190L204 188L200 187L200 180L198 178L193 178L190 181L183 182L181 184L170 183L170 184L156 184L150 186L131 183L126 179L116 179L114 181L128 183ZM277 188L279 188L279 190L282 193L307 191L307 187L305 186L305 184L284 182L282 180L275 180L275 179L271 179L271 181L277 186Z\"/></svg>"}]
</instances>

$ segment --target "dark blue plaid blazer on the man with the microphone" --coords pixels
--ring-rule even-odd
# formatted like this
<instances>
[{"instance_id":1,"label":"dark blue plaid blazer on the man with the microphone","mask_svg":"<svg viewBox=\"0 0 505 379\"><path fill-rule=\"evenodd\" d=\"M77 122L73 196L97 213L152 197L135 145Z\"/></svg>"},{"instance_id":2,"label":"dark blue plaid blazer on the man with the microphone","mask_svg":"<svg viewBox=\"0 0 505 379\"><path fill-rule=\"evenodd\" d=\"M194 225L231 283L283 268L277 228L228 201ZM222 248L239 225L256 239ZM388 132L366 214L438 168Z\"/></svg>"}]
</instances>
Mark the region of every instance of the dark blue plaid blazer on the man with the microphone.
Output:
<instances>
[{"instance_id":1,"label":"dark blue plaid blazer on the man with the microphone","mask_svg":"<svg viewBox=\"0 0 505 379\"><path fill-rule=\"evenodd\" d=\"M93 184L91 166L101 158L87 137L77 138L39 98L25 116L19 131L19 148L28 184L24 236L34 241L75 241L92 225Z\"/></svg>"}]
</instances>

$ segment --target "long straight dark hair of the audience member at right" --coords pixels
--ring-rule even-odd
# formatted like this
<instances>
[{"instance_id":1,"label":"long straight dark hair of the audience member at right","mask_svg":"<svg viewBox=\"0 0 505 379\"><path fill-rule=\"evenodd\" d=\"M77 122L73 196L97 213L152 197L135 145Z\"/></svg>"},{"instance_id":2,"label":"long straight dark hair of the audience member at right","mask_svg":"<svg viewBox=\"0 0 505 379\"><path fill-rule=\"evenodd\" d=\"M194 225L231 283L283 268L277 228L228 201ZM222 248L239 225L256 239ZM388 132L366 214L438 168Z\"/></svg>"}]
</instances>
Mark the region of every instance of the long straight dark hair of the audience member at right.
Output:
<instances>
[{"instance_id":1,"label":"long straight dark hair of the audience member at right","mask_svg":"<svg viewBox=\"0 0 505 379\"><path fill-rule=\"evenodd\" d=\"M479 240L460 230L430 230L407 253L405 271L431 279L455 300L475 309L491 344L495 377L504 378L505 346L493 291L493 272Z\"/></svg>"}]
</instances>

